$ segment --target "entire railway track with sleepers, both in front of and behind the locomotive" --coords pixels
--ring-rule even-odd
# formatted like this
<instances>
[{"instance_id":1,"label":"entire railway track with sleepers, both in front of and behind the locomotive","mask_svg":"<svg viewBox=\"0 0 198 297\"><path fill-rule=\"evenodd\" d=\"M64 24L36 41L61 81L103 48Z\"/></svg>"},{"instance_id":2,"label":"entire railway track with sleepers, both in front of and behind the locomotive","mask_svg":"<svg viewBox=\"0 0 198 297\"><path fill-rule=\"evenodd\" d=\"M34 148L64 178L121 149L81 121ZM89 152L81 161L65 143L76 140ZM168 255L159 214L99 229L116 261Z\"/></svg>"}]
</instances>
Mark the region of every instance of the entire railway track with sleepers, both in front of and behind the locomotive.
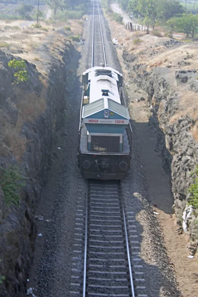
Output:
<instances>
[{"instance_id":1,"label":"entire railway track with sleepers, both in front of and behind the locomotive","mask_svg":"<svg viewBox=\"0 0 198 297\"><path fill-rule=\"evenodd\" d=\"M91 67L106 66L97 1L92 29ZM121 182L88 181L85 204L79 197L76 215L70 296L148 297L135 214L125 214Z\"/></svg>"}]
</instances>

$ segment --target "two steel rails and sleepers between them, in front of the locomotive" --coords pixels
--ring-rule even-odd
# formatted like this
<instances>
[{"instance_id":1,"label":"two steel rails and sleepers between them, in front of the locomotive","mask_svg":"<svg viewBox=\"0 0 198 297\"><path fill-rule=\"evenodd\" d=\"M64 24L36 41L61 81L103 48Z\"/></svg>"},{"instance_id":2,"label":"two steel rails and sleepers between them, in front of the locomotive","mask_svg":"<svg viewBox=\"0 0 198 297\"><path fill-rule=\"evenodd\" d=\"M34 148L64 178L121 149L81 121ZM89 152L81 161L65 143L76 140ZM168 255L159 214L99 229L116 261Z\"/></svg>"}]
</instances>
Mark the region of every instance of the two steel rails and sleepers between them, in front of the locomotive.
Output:
<instances>
[{"instance_id":1,"label":"two steel rails and sleepers between them, in front of the locomotive","mask_svg":"<svg viewBox=\"0 0 198 297\"><path fill-rule=\"evenodd\" d=\"M135 297L120 183L88 182L83 297Z\"/></svg>"}]
</instances>

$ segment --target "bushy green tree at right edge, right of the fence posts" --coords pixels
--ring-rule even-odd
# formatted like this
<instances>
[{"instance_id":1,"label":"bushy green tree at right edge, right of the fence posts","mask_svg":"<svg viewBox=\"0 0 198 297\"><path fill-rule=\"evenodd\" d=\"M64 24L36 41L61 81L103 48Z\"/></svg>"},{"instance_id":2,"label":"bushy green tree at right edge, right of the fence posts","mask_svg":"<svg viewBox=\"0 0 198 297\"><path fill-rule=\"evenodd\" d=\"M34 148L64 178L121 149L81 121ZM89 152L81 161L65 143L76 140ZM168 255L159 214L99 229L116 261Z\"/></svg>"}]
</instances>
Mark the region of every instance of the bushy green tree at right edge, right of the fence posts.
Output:
<instances>
[{"instance_id":1,"label":"bushy green tree at right edge, right of the fence posts","mask_svg":"<svg viewBox=\"0 0 198 297\"><path fill-rule=\"evenodd\" d=\"M181 17L171 18L167 24L178 32L183 32L187 37L192 38L198 32L198 14L183 13Z\"/></svg>"}]
</instances>

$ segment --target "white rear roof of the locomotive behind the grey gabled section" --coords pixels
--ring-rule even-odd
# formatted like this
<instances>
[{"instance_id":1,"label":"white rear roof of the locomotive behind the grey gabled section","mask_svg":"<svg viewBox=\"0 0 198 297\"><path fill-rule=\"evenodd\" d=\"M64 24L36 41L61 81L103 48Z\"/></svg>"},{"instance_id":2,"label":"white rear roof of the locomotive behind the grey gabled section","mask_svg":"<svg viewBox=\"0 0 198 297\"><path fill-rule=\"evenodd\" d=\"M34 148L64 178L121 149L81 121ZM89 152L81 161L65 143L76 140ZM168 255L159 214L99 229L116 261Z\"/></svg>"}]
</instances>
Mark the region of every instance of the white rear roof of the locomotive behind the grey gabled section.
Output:
<instances>
[{"instance_id":1,"label":"white rear roof of the locomotive behind the grey gabled section","mask_svg":"<svg viewBox=\"0 0 198 297\"><path fill-rule=\"evenodd\" d=\"M108 97L121 104L117 82L118 71L111 67L93 67L86 71L90 81L90 103ZM111 77L110 77L110 76Z\"/></svg>"}]
</instances>

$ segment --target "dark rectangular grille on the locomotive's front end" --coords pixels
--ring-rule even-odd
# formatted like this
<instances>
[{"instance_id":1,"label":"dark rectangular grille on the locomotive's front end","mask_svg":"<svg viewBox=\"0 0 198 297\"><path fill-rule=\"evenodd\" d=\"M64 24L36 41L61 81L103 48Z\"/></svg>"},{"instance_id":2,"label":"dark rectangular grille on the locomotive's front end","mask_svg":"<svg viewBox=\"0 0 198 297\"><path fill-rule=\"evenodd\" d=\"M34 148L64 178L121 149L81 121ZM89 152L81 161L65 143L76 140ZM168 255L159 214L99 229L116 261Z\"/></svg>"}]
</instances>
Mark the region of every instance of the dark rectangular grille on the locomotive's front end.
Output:
<instances>
[{"instance_id":1,"label":"dark rectangular grille on the locomotive's front end","mask_svg":"<svg viewBox=\"0 0 198 297\"><path fill-rule=\"evenodd\" d=\"M95 151L119 151L119 136L97 136L91 138L91 150Z\"/></svg>"}]
</instances>

